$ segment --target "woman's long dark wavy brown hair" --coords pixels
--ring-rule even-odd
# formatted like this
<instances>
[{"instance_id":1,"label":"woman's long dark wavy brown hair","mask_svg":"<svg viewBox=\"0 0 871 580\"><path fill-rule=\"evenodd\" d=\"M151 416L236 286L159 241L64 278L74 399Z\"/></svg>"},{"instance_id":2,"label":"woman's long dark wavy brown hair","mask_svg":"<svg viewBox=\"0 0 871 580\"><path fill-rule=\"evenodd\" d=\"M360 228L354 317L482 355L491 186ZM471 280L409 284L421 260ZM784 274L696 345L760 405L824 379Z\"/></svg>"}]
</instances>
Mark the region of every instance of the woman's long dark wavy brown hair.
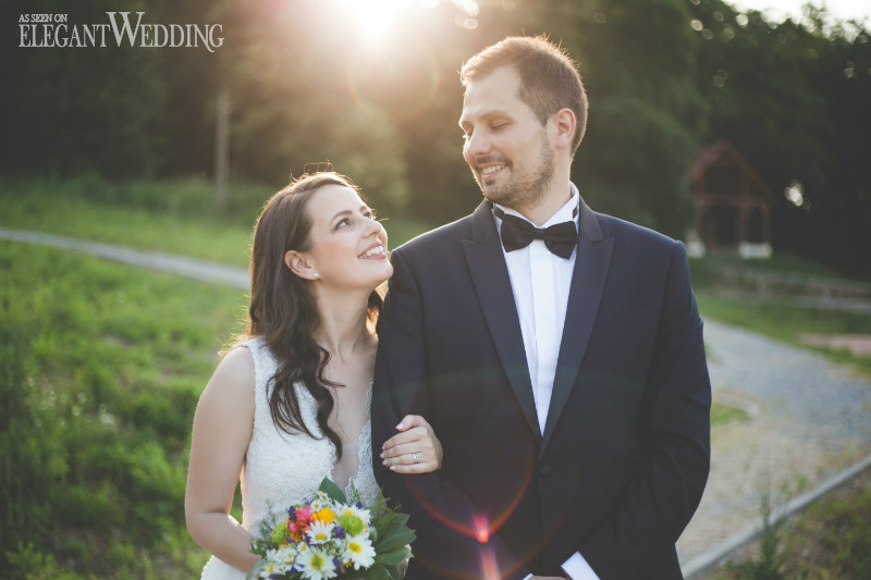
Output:
<instances>
[{"instance_id":1,"label":"woman's long dark wavy brown hair","mask_svg":"<svg viewBox=\"0 0 871 580\"><path fill-rule=\"evenodd\" d=\"M262 336L279 362L269 391L272 421L286 433L315 436L303 419L294 388L295 383L304 384L317 402L318 427L333 443L339 460L342 443L328 424L334 406L328 387L343 385L324 377L330 353L315 342L320 317L311 282L294 274L284 263L289 250L310 248L311 217L307 205L315 192L324 185L351 187L359 194L351 180L335 172L303 175L272 196L257 219L246 334ZM381 296L373 291L368 300L368 318L372 325L381 305Z\"/></svg>"}]
</instances>

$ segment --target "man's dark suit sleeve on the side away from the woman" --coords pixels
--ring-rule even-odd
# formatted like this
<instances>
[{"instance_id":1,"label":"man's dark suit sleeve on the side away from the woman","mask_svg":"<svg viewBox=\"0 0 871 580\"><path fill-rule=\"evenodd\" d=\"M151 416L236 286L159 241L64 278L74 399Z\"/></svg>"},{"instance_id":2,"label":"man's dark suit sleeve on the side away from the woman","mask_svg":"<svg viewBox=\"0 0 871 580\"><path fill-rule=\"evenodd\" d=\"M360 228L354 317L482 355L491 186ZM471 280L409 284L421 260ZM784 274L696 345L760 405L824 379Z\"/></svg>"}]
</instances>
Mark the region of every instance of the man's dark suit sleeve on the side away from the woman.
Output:
<instances>
[{"instance_id":1,"label":"man's dark suit sleeve on the side away from the woman","mask_svg":"<svg viewBox=\"0 0 871 580\"><path fill-rule=\"evenodd\" d=\"M643 578L701 501L710 468L711 384L686 251L674 243L643 402L641 466L579 552L601 578Z\"/></svg>"}]
</instances>

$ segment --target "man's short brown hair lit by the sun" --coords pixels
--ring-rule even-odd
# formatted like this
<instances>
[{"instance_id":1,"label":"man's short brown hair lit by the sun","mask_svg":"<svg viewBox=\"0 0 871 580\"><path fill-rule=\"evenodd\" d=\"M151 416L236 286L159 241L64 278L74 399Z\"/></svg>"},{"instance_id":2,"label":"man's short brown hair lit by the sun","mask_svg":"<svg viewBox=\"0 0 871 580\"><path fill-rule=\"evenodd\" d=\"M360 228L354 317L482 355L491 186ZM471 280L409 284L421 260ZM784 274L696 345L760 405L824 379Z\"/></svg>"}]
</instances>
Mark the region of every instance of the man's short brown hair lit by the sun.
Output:
<instances>
[{"instance_id":1,"label":"man's short brown hair lit by the sun","mask_svg":"<svg viewBox=\"0 0 871 580\"><path fill-rule=\"evenodd\" d=\"M542 125L560 109L574 111L574 155L587 129L587 92L568 53L543 36L510 36L467 60L459 81L468 87L503 66L513 66L520 75L520 100Z\"/></svg>"}]
</instances>

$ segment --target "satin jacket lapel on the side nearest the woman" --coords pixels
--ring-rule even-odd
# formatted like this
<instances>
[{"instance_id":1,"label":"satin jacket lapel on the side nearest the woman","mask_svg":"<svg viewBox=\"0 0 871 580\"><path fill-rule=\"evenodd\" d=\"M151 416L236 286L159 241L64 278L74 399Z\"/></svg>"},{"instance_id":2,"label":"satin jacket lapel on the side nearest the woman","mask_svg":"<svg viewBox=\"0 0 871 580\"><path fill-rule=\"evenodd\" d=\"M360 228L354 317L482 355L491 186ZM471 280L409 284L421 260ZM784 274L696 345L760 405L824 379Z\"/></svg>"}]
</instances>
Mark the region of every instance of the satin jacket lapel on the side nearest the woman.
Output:
<instances>
[{"instance_id":1,"label":"satin jacket lapel on the side nearest the woman","mask_svg":"<svg viewBox=\"0 0 871 580\"><path fill-rule=\"evenodd\" d=\"M508 268L505 266L502 244L488 201L475 210L471 239L463 240L463 249L475 283L475 292L478 294L478 303L503 370L538 443L541 440L541 429L532 398L520 321L514 304Z\"/></svg>"}]
</instances>

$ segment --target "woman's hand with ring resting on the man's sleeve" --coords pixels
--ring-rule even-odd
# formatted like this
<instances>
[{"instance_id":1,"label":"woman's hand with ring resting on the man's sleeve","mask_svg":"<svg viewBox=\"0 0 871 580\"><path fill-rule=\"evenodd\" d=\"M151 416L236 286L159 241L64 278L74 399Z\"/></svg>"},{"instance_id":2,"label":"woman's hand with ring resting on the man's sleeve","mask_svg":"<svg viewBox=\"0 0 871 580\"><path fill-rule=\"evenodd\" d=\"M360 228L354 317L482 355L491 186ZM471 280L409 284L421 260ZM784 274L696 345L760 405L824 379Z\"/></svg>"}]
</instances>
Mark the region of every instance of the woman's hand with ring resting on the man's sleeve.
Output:
<instances>
[{"instance_id":1,"label":"woman's hand with ring resting on the man's sleeve","mask_svg":"<svg viewBox=\"0 0 871 580\"><path fill-rule=\"evenodd\" d=\"M382 462L397 473L429 473L442 467L442 444L419 415L406 415L400 431L381 446Z\"/></svg>"}]
</instances>

